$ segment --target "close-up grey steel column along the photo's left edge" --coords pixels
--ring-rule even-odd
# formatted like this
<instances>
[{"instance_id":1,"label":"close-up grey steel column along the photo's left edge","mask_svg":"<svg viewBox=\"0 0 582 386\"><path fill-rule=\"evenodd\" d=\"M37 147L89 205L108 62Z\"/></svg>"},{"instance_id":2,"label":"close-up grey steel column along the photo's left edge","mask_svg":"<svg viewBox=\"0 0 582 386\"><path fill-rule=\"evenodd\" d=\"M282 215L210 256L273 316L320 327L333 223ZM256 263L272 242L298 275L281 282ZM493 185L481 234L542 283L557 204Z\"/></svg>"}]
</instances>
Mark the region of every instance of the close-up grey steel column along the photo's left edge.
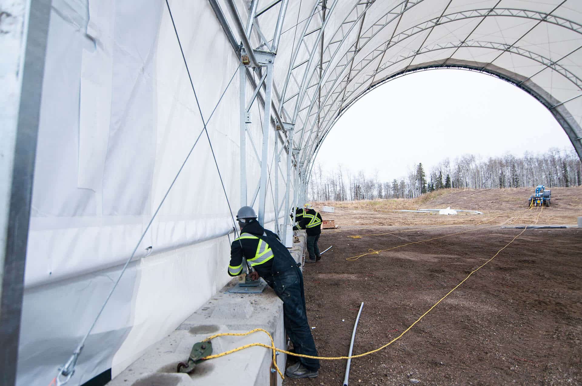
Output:
<instances>
[{"instance_id":1,"label":"close-up grey steel column along the photo's left edge","mask_svg":"<svg viewBox=\"0 0 582 386\"><path fill-rule=\"evenodd\" d=\"M12 12L13 23L2 26L19 42L18 52L8 51L3 60L12 82L2 84L3 142L0 145L2 167L0 188L0 384L16 384L20 318L24 294L24 266L29 234L34 163L36 161L38 123L40 120L42 78L47 52L51 0L20 0L2 6ZM14 54L14 55L12 55ZM14 84L11 86L10 84Z\"/></svg>"}]
</instances>

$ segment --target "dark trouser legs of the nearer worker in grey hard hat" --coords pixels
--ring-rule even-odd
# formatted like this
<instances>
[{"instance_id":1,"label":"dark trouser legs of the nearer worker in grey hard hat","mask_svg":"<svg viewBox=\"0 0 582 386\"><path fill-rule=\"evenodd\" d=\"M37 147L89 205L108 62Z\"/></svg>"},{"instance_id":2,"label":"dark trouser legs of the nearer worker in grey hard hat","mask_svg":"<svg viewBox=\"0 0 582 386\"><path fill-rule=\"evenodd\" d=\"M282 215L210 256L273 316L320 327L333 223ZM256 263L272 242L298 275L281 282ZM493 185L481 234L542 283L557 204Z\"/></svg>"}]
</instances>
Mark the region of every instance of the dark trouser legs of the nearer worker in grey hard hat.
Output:
<instances>
[{"instance_id":1,"label":"dark trouser legs of the nearer worker in grey hard hat","mask_svg":"<svg viewBox=\"0 0 582 386\"><path fill-rule=\"evenodd\" d=\"M283 301L283 323L295 352L317 356L311 327L307 321L301 270L298 267L289 269L273 279L273 289ZM319 359L299 358L299 360L310 370L320 368Z\"/></svg>"}]
</instances>

